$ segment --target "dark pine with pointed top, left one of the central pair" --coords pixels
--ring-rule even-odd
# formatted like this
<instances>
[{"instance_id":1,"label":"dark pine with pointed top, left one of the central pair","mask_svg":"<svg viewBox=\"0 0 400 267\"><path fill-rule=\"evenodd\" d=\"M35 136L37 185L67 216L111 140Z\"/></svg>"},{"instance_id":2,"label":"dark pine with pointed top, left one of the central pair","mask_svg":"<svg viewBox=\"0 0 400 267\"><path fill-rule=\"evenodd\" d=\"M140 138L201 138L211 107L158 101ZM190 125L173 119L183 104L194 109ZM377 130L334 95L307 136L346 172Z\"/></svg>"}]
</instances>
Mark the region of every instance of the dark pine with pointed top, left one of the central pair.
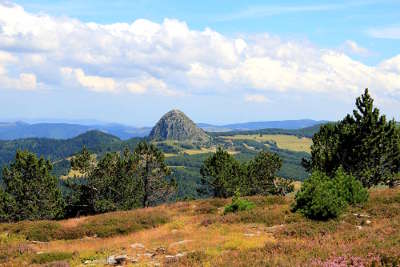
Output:
<instances>
[{"instance_id":1,"label":"dark pine with pointed top, left one of the central pair","mask_svg":"<svg viewBox=\"0 0 400 267\"><path fill-rule=\"evenodd\" d=\"M204 161L200 174L202 185L210 189L214 197L233 196L235 190L243 186L240 163L221 147Z\"/></svg>"}]
</instances>

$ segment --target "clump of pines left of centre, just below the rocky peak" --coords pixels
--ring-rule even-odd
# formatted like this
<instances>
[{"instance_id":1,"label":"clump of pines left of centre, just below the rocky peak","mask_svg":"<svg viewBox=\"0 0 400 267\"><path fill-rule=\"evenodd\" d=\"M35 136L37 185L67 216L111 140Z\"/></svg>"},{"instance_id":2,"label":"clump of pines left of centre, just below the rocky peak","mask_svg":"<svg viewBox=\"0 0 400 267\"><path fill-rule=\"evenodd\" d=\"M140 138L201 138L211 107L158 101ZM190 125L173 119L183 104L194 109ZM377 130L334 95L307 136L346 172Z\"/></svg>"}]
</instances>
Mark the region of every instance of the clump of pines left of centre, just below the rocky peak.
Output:
<instances>
[{"instance_id":1,"label":"clump of pines left of centre, just below the rocky peak","mask_svg":"<svg viewBox=\"0 0 400 267\"><path fill-rule=\"evenodd\" d=\"M165 201L175 189L166 179L170 169L164 155L145 142L133 153L107 153L98 163L84 148L71 166L84 175L65 182L70 216L148 207Z\"/></svg>"}]
</instances>

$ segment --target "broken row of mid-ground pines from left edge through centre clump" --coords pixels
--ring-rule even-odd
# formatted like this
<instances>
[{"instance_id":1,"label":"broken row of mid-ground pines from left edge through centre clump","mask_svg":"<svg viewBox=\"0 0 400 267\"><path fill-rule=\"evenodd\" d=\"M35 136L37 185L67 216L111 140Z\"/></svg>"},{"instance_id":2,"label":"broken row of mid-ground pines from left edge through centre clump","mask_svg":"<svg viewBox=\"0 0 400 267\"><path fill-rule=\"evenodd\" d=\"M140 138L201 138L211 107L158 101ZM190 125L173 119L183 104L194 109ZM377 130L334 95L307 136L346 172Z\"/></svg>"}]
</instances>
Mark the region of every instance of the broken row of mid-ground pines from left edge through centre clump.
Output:
<instances>
[{"instance_id":1,"label":"broken row of mid-ground pines from left edge through centre clump","mask_svg":"<svg viewBox=\"0 0 400 267\"><path fill-rule=\"evenodd\" d=\"M71 170L79 175L58 180L52 164L28 151L17 151L3 169L0 187L0 221L62 219L116 210L145 208L171 199L177 189L164 154L153 144L139 143L131 151L109 152L100 160L86 148L71 158ZM240 164L222 148L201 168L199 191L214 197L285 194L289 183L277 180L282 161L278 155L260 152Z\"/></svg>"}]
</instances>

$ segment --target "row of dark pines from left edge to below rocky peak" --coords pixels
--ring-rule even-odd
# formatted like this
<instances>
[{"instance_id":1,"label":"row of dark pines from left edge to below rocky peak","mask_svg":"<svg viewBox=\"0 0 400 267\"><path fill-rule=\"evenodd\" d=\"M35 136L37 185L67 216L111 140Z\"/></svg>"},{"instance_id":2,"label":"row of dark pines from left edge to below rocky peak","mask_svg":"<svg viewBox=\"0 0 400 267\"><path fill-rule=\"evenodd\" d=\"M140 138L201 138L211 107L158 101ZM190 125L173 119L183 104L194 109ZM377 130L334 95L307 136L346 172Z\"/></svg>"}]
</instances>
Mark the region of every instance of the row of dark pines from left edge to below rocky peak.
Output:
<instances>
[{"instance_id":1,"label":"row of dark pines from left edge to below rocky peak","mask_svg":"<svg viewBox=\"0 0 400 267\"><path fill-rule=\"evenodd\" d=\"M58 181L49 160L17 151L3 169L0 221L61 219L149 207L175 190L170 169L154 145L139 143L131 152L107 153L97 162L86 148L71 159L79 177ZM62 192L62 190L64 192Z\"/></svg>"}]
</instances>

